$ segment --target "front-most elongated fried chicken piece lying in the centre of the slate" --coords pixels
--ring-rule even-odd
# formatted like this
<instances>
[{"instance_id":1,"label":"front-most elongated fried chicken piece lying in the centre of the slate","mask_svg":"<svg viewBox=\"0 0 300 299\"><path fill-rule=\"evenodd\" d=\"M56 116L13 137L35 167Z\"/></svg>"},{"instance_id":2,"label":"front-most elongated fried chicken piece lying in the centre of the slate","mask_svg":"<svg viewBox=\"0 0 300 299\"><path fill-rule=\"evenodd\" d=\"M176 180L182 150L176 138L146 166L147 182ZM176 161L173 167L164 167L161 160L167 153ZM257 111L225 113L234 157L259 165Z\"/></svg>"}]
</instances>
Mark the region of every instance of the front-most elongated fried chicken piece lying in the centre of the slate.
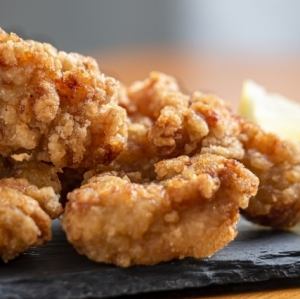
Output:
<instances>
[{"instance_id":1,"label":"front-most elongated fried chicken piece lying in the centre of the slate","mask_svg":"<svg viewBox=\"0 0 300 299\"><path fill-rule=\"evenodd\" d=\"M258 186L242 164L212 154L163 160L155 174L102 173L69 193L62 223L79 253L122 267L211 256L234 239Z\"/></svg>"}]
</instances>

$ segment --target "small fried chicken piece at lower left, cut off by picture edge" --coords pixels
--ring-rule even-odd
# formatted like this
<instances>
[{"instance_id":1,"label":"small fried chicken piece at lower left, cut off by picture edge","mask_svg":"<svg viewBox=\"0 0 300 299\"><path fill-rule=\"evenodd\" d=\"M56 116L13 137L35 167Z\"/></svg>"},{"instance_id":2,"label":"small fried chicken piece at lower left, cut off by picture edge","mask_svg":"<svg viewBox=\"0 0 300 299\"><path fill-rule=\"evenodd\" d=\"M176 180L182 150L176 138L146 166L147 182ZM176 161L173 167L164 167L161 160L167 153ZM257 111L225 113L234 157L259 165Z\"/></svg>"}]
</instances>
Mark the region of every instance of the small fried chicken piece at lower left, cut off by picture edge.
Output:
<instances>
[{"instance_id":1,"label":"small fried chicken piece at lower left, cut off by picture edge","mask_svg":"<svg viewBox=\"0 0 300 299\"><path fill-rule=\"evenodd\" d=\"M51 187L25 179L0 180L0 257L7 262L51 238L51 218L62 212Z\"/></svg>"}]
</instances>

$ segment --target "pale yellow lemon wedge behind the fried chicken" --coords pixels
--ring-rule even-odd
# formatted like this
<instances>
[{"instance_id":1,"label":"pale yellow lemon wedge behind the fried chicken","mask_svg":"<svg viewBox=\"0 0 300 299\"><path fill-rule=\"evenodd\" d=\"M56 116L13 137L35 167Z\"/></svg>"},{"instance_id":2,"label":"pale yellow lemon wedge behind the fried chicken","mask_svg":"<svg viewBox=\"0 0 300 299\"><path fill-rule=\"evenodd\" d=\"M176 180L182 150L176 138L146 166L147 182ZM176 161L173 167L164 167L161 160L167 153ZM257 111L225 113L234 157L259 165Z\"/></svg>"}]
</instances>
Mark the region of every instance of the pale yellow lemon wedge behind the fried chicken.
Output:
<instances>
[{"instance_id":1,"label":"pale yellow lemon wedge behind the fried chicken","mask_svg":"<svg viewBox=\"0 0 300 299\"><path fill-rule=\"evenodd\" d=\"M243 84L239 113L265 131L300 142L300 102L269 93L251 80Z\"/></svg>"}]
</instances>

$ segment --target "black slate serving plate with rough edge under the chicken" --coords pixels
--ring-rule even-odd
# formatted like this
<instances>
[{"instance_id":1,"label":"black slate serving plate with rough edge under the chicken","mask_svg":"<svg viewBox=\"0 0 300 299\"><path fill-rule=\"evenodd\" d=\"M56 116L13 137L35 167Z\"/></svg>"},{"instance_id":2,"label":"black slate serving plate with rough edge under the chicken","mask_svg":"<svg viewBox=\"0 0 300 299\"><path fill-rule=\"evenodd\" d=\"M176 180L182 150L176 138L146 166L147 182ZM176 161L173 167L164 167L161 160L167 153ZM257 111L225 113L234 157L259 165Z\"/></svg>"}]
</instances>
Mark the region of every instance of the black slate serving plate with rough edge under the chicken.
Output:
<instances>
[{"instance_id":1,"label":"black slate serving plate with rough edge under the chicken","mask_svg":"<svg viewBox=\"0 0 300 299\"><path fill-rule=\"evenodd\" d=\"M300 278L300 235L242 221L236 241L211 259L121 269L78 255L59 224L53 241L0 262L0 298L107 298L156 291Z\"/></svg>"}]
</instances>

